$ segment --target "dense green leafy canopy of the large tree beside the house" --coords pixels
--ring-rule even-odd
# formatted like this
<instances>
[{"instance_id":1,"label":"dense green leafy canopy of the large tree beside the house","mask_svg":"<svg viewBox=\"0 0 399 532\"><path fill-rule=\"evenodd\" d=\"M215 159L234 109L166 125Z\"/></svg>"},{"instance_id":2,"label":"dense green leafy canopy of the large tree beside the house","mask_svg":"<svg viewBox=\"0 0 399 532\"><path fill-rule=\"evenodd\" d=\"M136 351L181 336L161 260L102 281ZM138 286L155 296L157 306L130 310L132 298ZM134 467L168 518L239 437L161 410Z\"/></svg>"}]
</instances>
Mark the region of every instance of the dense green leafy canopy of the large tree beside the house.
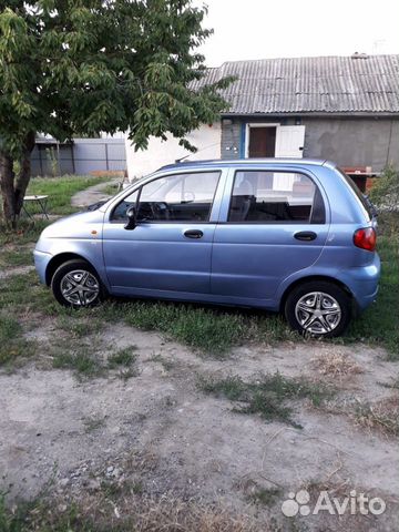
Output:
<instances>
[{"instance_id":1,"label":"dense green leafy canopy of the large tree beside the house","mask_svg":"<svg viewBox=\"0 0 399 532\"><path fill-rule=\"evenodd\" d=\"M191 89L205 72L196 52L211 33L202 28L204 14L192 0L0 1L6 216L22 205L23 161L37 132L64 141L122 130L136 149L145 149L150 135L171 132L193 149L184 135L226 108L217 90L229 82ZM12 200L3 184L14 160L22 163L12 176Z\"/></svg>"}]
</instances>

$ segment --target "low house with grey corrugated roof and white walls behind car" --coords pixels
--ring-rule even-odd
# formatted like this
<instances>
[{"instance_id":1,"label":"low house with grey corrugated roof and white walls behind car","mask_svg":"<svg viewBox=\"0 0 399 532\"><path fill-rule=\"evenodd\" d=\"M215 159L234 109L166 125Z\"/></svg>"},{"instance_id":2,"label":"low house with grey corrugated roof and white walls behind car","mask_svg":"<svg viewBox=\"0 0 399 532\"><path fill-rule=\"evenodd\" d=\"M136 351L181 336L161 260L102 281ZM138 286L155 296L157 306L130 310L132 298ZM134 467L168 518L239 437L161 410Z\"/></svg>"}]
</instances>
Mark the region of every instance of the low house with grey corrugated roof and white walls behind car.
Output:
<instances>
[{"instance_id":1,"label":"low house with grey corrugated roof and white walls behind car","mask_svg":"<svg viewBox=\"0 0 399 532\"><path fill-rule=\"evenodd\" d=\"M399 54L234 61L209 69L197 89L226 75L228 111L187 135L191 154L168 137L145 152L126 141L130 178L188 155L197 158L319 157L351 173L399 165Z\"/></svg>"}]
</instances>

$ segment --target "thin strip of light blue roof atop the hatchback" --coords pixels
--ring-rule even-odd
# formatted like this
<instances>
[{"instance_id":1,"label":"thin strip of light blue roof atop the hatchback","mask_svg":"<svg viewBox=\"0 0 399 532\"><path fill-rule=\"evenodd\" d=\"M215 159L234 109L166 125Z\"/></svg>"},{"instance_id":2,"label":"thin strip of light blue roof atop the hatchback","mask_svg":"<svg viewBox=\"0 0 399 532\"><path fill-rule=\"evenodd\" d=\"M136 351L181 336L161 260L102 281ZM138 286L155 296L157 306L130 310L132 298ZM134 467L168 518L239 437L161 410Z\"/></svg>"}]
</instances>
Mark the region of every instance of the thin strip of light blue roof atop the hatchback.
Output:
<instances>
[{"instance_id":1,"label":"thin strip of light blue roof atop the hatchback","mask_svg":"<svg viewBox=\"0 0 399 532\"><path fill-rule=\"evenodd\" d=\"M182 161L175 162L173 164L166 164L158 168L161 170L182 170L182 168L191 168L191 167L221 167L221 166L241 166L241 165L258 165L258 164L267 164L267 165L295 165L295 166L332 166L336 165L329 161L323 158L275 158L275 157L267 157L267 158L208 158L208 160L198 160L198 161Z\"/></svg>"}]
</instances>

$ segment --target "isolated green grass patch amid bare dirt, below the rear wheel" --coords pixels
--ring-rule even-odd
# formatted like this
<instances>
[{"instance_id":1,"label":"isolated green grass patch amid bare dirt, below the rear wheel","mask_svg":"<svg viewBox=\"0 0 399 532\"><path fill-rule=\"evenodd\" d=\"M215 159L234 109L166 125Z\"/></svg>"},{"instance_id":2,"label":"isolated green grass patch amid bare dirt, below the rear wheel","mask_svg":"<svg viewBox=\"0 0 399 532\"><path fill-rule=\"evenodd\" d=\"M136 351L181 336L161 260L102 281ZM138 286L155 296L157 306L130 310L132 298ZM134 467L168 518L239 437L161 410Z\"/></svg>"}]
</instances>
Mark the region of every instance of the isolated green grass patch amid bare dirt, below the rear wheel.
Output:
<instances>
[{"instance_id":1,"label":"isolated green grass patch amid bare dirt, below the rear wheel","mask_svg":"<svg viewBox=\"0 0 399 532\"><path fill-rule=\"evenodd\" d=\"M224 397L239 406L234 411L239 413L256 413L267 421L282 421L301 428L291 418L293 409L286 405L290 399L309 399L319 407L334 393L331 388L309 382L303 378L290 379L282 374L266 374L256 380L244 381L238 376L223 379L200 377L198 388L205 393Z\"/></svg>"}]
</instances>

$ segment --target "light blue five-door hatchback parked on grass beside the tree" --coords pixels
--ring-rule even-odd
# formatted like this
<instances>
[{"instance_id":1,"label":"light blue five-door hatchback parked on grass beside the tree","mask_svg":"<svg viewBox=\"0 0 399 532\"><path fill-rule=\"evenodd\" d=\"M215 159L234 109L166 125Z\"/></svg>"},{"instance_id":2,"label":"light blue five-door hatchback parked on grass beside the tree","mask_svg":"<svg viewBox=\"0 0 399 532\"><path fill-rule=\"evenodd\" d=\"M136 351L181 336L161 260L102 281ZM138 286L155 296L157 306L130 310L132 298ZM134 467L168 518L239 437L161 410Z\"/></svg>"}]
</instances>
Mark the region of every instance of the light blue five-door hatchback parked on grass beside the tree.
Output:
<instances>
[{"instance_id":1,"label":"light blue five-door hatchback parked on grass beside the tree","mask_svg":"<svg viewBox=\"0 0 399 532\"><path fill-rule=\"evenodd\" d=\"M331 337L377 296L376 225L330 162L198 161L50 225L34 260L62 305L111 294L260 307Z\"/></svg>"}]
</instances>

